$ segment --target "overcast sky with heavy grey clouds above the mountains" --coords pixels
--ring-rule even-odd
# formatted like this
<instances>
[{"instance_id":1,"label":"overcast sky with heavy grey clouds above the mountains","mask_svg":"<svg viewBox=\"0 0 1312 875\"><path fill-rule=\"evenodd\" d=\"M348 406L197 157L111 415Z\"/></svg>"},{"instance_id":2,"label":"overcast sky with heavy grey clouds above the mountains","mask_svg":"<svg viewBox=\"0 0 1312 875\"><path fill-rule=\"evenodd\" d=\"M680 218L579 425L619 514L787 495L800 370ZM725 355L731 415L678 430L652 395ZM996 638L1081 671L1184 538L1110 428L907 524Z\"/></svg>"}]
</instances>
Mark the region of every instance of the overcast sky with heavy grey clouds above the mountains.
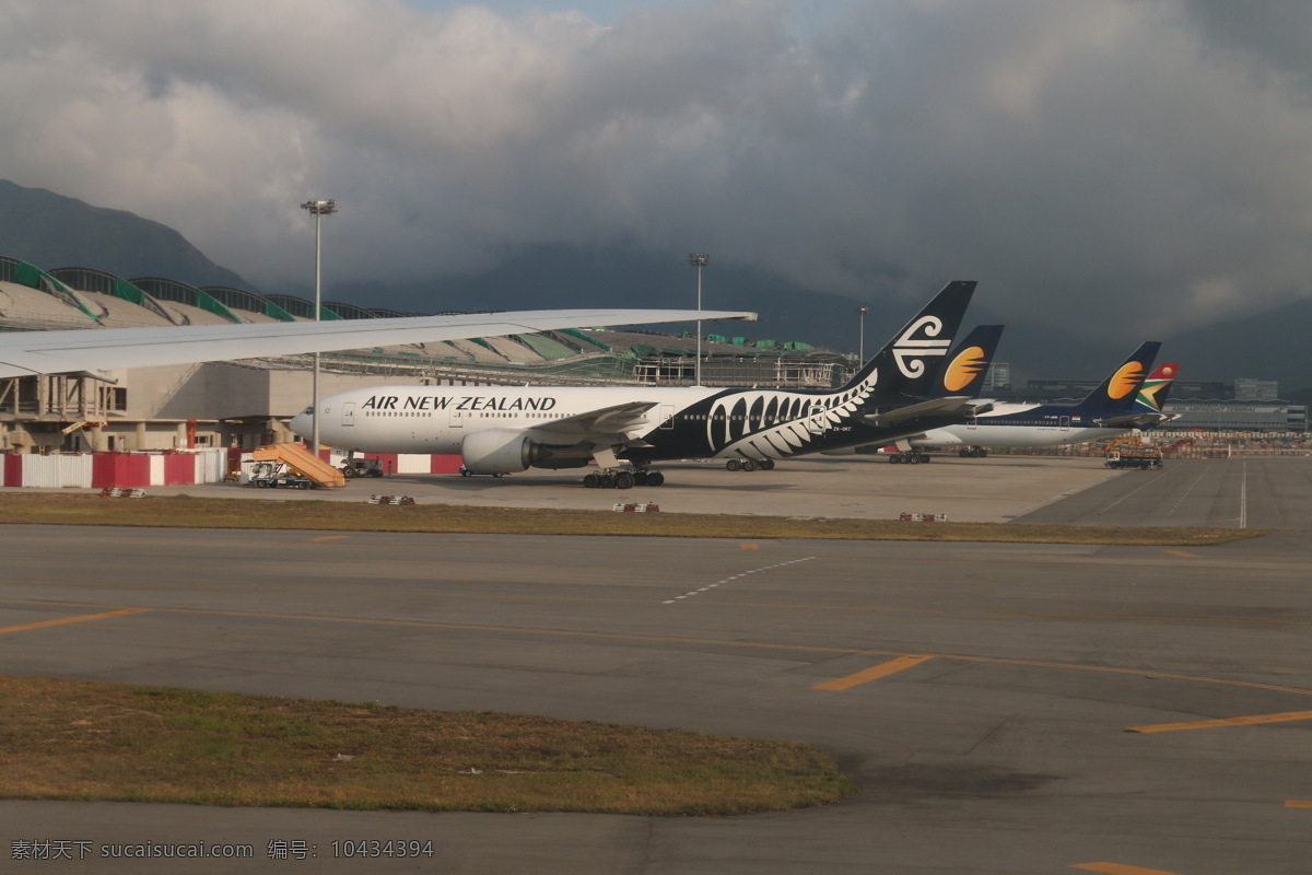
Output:
<instances>
[{"instance_id":1,"label":"overcast sky with heavy grey clouds above the mountains","mask_svg":"<svg viewBox=\"0 0 1312 875\"><path fill-rule=\"evenodd\" d=\"M623 243L1141 338L1312 295L1309 43L1295 0L0 0L0 177L265 287L333 197L338 282Z\"/></svg>"}]
</instances>

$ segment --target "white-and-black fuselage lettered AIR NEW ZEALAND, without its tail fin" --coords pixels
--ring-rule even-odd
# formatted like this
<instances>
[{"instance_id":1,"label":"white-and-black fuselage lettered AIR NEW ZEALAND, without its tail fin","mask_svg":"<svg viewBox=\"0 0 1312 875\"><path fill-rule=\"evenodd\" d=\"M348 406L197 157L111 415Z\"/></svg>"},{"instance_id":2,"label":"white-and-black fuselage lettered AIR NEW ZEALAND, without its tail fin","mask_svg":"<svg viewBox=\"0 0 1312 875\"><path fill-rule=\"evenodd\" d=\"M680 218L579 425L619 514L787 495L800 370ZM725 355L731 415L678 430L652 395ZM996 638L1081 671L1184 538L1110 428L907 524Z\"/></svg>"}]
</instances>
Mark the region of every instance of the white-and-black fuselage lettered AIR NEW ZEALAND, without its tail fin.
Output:
<instances>
[{"instance_id":1,"label":"white-and-black fuselage lettered AIR NEW ZEALAND, without its tail fin","mask_svg":"<svg viewBox=\"0 0 1312 875\"><path fill-rule=\"evenodd\" d=\"M781 459L892 439L930 425L912 422L896 433L872 426L862 418L863 395L863 387L387 386L324 399L319 432L324 443L344 450L461 454L471 467L522 471L581 467L596 450L611 446L617 459L639 464L687 458ZM293 429L304 433L308 418L299 415ZM933 425L947 421L945 417ZM516 462L521 450L527 464Z\"/></svg>"}]
</instances>

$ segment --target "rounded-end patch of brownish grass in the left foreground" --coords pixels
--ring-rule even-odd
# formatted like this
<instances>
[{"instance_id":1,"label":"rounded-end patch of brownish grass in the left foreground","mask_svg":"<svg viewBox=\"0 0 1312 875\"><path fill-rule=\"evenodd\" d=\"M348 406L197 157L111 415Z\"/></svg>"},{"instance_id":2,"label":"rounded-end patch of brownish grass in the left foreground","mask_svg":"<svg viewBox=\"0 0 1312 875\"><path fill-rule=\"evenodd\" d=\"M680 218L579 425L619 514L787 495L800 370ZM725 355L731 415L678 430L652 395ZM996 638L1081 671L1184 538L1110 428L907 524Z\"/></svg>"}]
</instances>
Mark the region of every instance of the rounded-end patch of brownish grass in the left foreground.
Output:
<instances>
[{"instance_id":1,"label":"rounded-end patch of brownish grass in the left foreground","mask_svg":"<svg viewBox=\"0 0 1312 875\"><path fill-rule=\"evenodd\" d=\"M791 741L0 676L0 796L743 815L857 792Z\"/></svg>"}]
</instances>

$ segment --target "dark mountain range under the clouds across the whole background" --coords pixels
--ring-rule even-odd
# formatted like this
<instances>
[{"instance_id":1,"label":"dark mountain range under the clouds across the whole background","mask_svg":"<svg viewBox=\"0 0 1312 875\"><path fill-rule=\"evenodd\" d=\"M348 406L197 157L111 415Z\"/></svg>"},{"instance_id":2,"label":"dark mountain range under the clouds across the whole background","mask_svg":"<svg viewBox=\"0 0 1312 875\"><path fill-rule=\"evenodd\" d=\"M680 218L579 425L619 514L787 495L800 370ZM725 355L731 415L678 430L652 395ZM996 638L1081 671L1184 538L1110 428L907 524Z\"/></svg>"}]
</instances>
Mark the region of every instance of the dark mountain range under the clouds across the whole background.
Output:
<instances>
[{"instance_id":1,"label":"dark mountain range under the clouds across the whole background","mask_svg":"<svg viewBox=\"0 0 1312 875\"><path fill-rule=\"evenodd\" d=\"M94 207L43 189L0 180L0 254L39 268L98 268L121 277L160 275L197 286L255 289L232 270L206 258L180 234L157 222L121 210ZM943 282L955 277L945 277ZM1253 314L1244 319L1168 337L1135 337L1123 348L1069 331L1027 323L989 306L988 278L968 314L968 325L1004 323L998 361L1012 365L1013 384L1031 378L1096 379L1105 375L1141 340L1162 340L1162 361L1181 362L1185 380L1237 376L1279 380L1283 396L1312 391L1312 300ZM304 294L303 289L265 293ZM866 300L804 289L765 270L711 257L702 269L706 310L752 310L761 321L708 323L707 333L743 335L753 340L802 341L855 354L867 306L865 348L870 354L896 332L938 289L916 299L871 294ZM426 283L357 281L327 295L363 307L399 311L543 310L555 307L687 307L697 306L697 272L685 254L653 253L638 247L589 249L544 244L506 253L484 273L436 277ZM670 331L659 327L657 331Z\"/></svg>"}]
</instances>

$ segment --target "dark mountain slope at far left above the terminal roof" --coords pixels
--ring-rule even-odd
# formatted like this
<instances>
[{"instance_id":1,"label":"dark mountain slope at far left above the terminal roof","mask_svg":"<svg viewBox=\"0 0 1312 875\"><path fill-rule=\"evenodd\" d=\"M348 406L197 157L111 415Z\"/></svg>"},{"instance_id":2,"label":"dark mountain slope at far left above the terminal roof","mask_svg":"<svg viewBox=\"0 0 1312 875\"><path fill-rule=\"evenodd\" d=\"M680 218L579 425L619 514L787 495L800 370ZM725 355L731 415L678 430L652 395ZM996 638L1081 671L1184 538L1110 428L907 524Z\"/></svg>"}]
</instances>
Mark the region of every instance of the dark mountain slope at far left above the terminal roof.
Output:
<instances>
[{"instance_id":1,"label":"dark mountain slope at far left above the terminal roof","mask_svg":"<svg viewBox=\"0 0 1312 875\"><path fill-rule=\"evenodd\" d=\"M0 254L45 270L96 268L129 279L150 275L251 289L168 226L8 180L0 180Z\"/></svg>"}]
</instances>

